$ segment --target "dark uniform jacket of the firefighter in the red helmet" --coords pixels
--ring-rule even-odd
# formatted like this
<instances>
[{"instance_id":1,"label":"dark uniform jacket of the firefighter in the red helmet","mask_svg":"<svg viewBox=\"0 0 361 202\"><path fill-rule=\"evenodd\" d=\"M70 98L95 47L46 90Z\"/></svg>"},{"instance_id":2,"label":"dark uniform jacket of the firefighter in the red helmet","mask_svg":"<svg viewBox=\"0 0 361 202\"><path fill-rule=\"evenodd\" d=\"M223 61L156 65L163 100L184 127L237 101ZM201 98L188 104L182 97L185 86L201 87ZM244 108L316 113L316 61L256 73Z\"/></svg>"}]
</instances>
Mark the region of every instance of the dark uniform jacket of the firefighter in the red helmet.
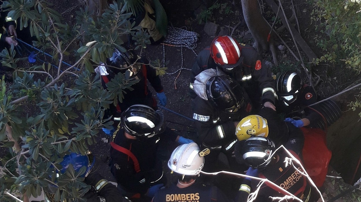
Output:
<instances>
[{"instance_id":1,"label":"dark uniform jacket of the firefighter in the red helmet","mask_svg":"<svg viewBox=\"0 0 361 202\"><path fill-rule=\"evenodd\" d=\"M258 102L263 104L267 101L274 104L275 81L270 77L268 68L257 54L256 50L252 46L242 43L240 60L243 60L242 67L235 67L236 70L232 74L225 73L229 74L244 86L248 96L254 104L257 104ZM210 48L205 48L198 54L197 59L192 66L191 89L193 89L192 83L195 80L195 76L205 69L215 69L216 67L217 64L212 57L210 57Z\"/></svg>"}]
</instances>

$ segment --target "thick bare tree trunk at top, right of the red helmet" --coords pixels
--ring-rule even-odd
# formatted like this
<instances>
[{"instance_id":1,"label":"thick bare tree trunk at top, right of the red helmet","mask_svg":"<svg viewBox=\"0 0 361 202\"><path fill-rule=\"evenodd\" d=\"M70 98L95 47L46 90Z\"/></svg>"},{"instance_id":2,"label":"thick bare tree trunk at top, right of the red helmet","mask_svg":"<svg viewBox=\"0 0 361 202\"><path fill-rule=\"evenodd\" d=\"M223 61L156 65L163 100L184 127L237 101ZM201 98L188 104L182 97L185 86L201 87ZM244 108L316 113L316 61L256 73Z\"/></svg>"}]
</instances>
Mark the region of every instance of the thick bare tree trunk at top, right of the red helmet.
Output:
<instances>
[{"instance_id":1,"label":"thick bare tree trunk at top, right of the red helmet","mask_svg":"<svg viewBox=\"0 0 361 202\"><path fill-rule=\"evenodd\" d=\"M277 65L277 54L274 48L272 33L268 41L268 35L270 33L271 27L262 16L258 1L241 0L241 2L244 20L253 38L255 39L253 47L257 49L258 53L267 52L270 50L272 53L273 62L275 65Z\"/></svg>"}]
</instances>

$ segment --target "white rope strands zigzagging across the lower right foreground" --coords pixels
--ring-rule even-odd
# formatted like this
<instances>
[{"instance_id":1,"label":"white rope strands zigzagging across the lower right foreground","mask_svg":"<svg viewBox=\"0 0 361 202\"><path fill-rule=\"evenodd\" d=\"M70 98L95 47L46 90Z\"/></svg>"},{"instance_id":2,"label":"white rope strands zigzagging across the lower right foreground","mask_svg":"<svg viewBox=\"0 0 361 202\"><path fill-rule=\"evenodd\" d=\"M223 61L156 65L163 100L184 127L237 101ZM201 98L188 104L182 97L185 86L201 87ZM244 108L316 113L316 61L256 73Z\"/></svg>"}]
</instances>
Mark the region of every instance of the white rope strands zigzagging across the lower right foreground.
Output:
<instances>
[{"instance_id":1,"label":"white rope strands zigzagging across the lower right foreground","mask_svg":"<svg viewBox=\"0 0 361 202\"><path fill-rule=\"evenodd\" d=\"M323 197L322 197L321 192L318 190L317 186L314 184L314 182L312 181L312 179L309 177L308 173L306 172L306 169L302 166L301 162L300 162L298 159L296 159L295 156L293 156L283 145L281 145L280 147L278 147L278 148L273 152L273 154L269 156L269 158L273 158L273 156L276 154L276 152L277 152L280 148L282 148L284 151L287 152L288 155L291 156L291 158L287 158L287 157L285 158L285 161L284 161L284 162L286 163L286 167L287 167L288 165L291 165L291 164L292 164L292 166L293 166L295 169L297 169L297 168L295 167L295 165L293 164L293 161L295 161L297 164L299 164L299 166L302 168L302 170L303 170L304 172L300 171L299 169L297 169L297 171L299 171L302 175L304 175L304 176L307 177L307 179L308 179L308 181L311 183L311 185L312 185L314 188L316 188L316 190L318 191L318 194L320 195L320 198L322 199L322 202L325 202L325 200L324 200ZM276 186L276 187L279 188L280 190L283 190L283 191L286 192L287 194L289 194L289 195L285 195L285 196L282 197L282 198L279 198L279 197L271 197L271 196L270 196L270 198L279 199L280 201L282 201L282 200L284 200L284 199L286 199L286 201L287 201L287 199L295 199L296 201L302 202L301 199L297 198L295 195L291 194L291 193L288 192L287 190L281 188L280 186L278 186L277 184L275 184L274 182L272 182L272 181L270 181L270 180L268 180L268 179L263 179L263 178L259 178L259 177L253 177L253 176L243 175L243 174L240 174L240 173L234 173L234 172L229 172L229 171L219 171L219 172L212 172L212 173L204 172L204 171L201 171L201 170L199 170L199 171L200 171L201 173L205 174L205 175L218 175L218 174L220 174L220 173L224 173L224 174L226 174L226 175L234 175L234 176L240 176L240 177L248 177L248 178L251 178L251 179L254 179L254 180L259 180L260 183L258 183L257 189L255 190L255 192L251 193L252 195L250 194L251 196L248 196L247 202L252 202L252 201L255 200L255 198L257 197L257 194L258 194L258 192L259 192L259 190L260 190L261 185L262 185L264 182L266 182L266 181L269 182L269 183L271 183L272 185ZM360 178L359 181L360 181L360 183L361 183L361 178Z\"/></svg>"}]
</instances>

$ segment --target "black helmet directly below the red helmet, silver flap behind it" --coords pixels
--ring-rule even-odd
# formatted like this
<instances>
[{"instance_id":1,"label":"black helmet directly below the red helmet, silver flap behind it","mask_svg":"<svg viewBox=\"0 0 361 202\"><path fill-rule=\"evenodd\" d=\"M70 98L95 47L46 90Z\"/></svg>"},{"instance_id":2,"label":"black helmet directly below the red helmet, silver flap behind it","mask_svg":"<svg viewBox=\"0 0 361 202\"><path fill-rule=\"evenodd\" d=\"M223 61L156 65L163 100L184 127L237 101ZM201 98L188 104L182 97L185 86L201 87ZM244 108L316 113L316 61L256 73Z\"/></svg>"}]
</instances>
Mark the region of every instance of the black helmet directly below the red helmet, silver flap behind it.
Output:
<instances>
[{"instance_id":1,"label":"black helmet directly below the red helmet, silver flap behind it","mask_svg":"<svg viewBox=\"0 0 361 202\"><path fill-rule=\"evenodd\" d=\"M244 107L243 89L227 75L214 76L206 83L206 94L214 105L225 112Z\"/></svg>"}]
</instances>

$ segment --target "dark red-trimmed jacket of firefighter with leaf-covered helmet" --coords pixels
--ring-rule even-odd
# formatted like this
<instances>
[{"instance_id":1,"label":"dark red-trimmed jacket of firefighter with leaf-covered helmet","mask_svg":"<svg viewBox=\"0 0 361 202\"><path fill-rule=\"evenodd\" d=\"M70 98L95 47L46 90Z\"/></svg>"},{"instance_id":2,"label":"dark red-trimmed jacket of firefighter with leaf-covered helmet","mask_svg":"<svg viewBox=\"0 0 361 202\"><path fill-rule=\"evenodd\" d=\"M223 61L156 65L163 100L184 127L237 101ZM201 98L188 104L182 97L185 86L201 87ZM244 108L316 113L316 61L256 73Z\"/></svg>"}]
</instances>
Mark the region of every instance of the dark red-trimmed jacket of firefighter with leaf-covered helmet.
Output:
<instances>
[{"instance_id":1,"label":"dark red-trimmed jacket of firefighter with leaf-covered helmet","mask_svg":"<svg viewBox=\"0 0 361 202\"><path fill-rule=\"evenodd\" d=\"M140 61L142 63L142 61ZM101 83L106 89L106 83L108 83L114 76L118 73L117 69L107 68L106 69L109 75L101 76ZM135 83L131 86L133 90L125 89L123 95L124 98L122 102L118 103L117 107L114 107L113 104L110 104L110 113L112 115L116 114L115 112L125 111L127 108L133 104L145 104L153 109L157 109L157 102L153 98L151 91L148 89L148 81L151 83L152 87L157 93L163 92L163 86L159 76L156 74L156 70L150 67L149 65L142 65L142 69L138 74L135 75L134 79L139 79L138 83Z\"/></svg>"}]
</instances>

